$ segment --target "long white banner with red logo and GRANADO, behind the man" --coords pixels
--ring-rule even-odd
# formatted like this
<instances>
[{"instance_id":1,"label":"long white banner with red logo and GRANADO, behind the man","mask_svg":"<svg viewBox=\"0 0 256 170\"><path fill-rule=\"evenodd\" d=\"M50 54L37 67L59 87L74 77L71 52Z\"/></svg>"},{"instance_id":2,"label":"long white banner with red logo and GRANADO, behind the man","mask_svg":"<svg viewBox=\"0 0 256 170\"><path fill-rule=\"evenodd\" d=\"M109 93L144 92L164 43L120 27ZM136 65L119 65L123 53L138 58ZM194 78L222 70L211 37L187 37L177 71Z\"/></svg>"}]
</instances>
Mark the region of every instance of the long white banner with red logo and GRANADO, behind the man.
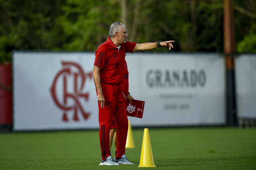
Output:
<instances>
[{"instance_id":1,"label":"long white banner with red logo and GRANADO, behind the man","mask_svg":"<svg viewBox=\"0 0 256 170\"><path fill-rule=\"evenodd\" d=\"M94 53L15 52L14 130L98 128ZM129 91L145 101L132 126L224 125L224 58L128 53Z\"/></svg>"}]
</instances>

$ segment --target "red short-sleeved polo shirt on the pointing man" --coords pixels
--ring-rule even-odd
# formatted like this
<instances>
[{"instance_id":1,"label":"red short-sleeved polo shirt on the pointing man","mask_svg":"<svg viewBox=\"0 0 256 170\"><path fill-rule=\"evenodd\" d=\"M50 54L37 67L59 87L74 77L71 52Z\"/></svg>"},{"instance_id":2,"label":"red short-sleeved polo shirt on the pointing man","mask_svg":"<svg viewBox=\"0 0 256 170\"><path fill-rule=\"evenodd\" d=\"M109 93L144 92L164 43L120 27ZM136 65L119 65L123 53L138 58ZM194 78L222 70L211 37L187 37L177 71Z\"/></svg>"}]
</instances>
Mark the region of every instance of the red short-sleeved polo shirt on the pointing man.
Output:
<instances>
[{"instance_id":1,"label":"red short-sleeved polo shirt on the pointing man","mask_svg":"<svg viewBox=\"0 0 256 170\"><path fill-rule=\"evenodd\" d=\"M104 83L122 84L125 52L133 53L136 43L126 41L118 49L108 37L95 52L94 65L100 67L100 80Z\"/></svg>"}]
</instances>

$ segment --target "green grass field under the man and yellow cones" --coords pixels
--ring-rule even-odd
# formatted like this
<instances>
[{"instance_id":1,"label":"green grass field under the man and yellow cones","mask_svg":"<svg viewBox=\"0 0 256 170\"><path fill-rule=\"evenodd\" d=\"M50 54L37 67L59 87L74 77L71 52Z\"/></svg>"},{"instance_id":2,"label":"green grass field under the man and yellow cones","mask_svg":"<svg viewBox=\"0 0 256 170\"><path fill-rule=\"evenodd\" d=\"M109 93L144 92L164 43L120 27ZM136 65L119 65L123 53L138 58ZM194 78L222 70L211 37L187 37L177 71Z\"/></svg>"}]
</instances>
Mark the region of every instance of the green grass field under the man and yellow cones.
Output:
<instances>
[{"instance_id":1,"label":"green grass field under the man and yellow cones","mask_svg":"<svg viewBox=\"0 0 256 170\"><path fill-rule=\"evenodd\" d=\"M98 130L0 134L0 169L136 169L144 129L132 129L135 165L98 166ZM149 128L155 168L256 169L256 129ZM114 146L112 146L114 154ZM141 169L141 168L138 168Z\"/></svg>"}]
</instances>

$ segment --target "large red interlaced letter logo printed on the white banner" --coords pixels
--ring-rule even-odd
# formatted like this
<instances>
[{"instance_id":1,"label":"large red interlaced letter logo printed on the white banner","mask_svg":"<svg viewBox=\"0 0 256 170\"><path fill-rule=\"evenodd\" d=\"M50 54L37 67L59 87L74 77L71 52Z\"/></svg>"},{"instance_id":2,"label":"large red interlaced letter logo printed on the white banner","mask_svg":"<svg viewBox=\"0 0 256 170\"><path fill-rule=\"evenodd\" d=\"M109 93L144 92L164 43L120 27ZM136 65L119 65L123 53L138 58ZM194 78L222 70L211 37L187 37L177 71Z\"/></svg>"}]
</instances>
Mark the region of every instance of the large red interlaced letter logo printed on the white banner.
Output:
<instances>
[{"instance_id":1,"label":"large red interlaced letter logo printed on the white banner","mask_svg":"<svg viewBox=\"0 0 256 170\"><path fill-rule=\"evenodd\" d=\"M62 120L67 122L68 112L73 112L73 120L79 121L78 111L84 119L88 119L90 112L86 112L80 103L79 99L83 98L85 101L89 99L89 93L83 92L86 80L92 80L92 72L85 73L79 64L74 62L62 63L62 69L56 74L51 85L51 96L55 104L63 111ZM57 85L62 88L61 94L57 94ZM84 101L84 100L82 100ZM72 104L70 104L72 103Z\"/></svg>"}]
</instances>

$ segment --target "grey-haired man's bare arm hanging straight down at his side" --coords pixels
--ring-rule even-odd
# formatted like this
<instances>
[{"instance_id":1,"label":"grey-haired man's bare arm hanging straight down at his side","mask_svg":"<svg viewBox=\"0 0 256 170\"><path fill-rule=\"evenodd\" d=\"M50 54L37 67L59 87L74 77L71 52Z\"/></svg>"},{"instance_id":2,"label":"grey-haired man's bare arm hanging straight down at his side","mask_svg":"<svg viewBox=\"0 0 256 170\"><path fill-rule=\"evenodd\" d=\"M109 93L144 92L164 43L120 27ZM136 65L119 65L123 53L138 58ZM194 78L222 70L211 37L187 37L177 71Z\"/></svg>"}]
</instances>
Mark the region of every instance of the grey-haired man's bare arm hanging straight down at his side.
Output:
<instances>
[{"instance_id":1,"label":"grey-haired man's bare arm hanging straight down at his side","mask_svg":"<svg viewBox=\"0 0 256 170\"><path fill-rule=\"evenodd\" d=\"M105 98L103 96L101 84L100 84L100 67L94 66L92 70L93 74L93 81L97 90L97 100L101 103L101 108L104 108L105 105Z\"/></svg>"}]
</instances>

